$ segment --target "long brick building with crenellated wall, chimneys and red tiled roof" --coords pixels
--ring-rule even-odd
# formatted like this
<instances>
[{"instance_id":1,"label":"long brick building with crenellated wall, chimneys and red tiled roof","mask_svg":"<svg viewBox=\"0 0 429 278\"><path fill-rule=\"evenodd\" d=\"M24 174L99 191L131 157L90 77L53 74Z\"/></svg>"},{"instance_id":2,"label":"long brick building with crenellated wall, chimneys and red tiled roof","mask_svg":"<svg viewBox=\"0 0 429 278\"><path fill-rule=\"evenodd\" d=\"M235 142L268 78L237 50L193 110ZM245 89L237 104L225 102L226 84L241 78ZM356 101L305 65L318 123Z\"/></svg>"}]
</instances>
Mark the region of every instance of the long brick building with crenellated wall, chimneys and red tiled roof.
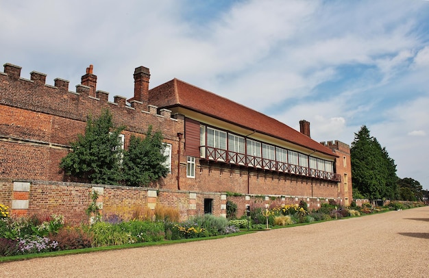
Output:
<instances>
[{"instance_id":1,"label":"long brick building with crenellated wall, chimneys and red tiled roof","mask_svg":"<svg viewBox=\"0 0 429 278\"><path fill-rule=\"evenodd\" d=\"M134 71L134 97L97 90L93 66L86 69L75 92L69 81L4 65L0 73L0 203L13 214L60 213L78 222L100 193L103 213L130 215L156 203L176 206L184 217L225 215L234 195L239 213L245 205L278 200L306 201L318 207L335 199L352 199L350 148L342 142L310 138L310 123L300 131L243 105L184 81L173 79L149 90L149 69ZM83 134L86 116L108 108L123 131L125 149L132 134L149 125L162 131L170 174L147 188L85 184L59 168L70 142ZM234 194L231 194L234 193Z\"/></svg>"}]
</instances>

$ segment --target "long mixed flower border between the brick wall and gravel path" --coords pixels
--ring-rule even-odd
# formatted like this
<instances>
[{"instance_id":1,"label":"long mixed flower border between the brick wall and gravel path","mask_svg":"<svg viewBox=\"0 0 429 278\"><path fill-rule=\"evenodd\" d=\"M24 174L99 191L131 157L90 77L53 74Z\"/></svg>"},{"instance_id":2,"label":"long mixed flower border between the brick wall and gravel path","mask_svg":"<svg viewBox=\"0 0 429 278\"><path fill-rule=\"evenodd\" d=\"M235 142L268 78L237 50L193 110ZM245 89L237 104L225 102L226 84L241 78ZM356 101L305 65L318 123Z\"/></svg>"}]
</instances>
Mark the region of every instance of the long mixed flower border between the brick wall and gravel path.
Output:
<instances>
[{"instance_id":1,"label":"long mixed flower border between the brick wall and gravel path","mask_svg":"<svg viewBox=\"0 0 429 278\"><path fill-rule=\"evenodd\" d=\"M252 220L258 220L260 217L256 214L262 214L262 208L256 205L261 204L258 203L252 207L251 214L252 212L254 214ZM300 205L269 207L269 227L271 229L296 227L334 219L331 217L332 210L328 210L328 214L322 214L316 210L308 212L305 210L304 203ZM323 205L323 210L328 207L332 209L332 206L334 203L327 203ZM338 209L340 206L334 206L333 213L339 218L356 217L359 214L366 215L361 212L367 212L368 209L373 214L419 206L423 206L423 204L392 202L385 207L373 208L365 204L363 207L342 207L341 210ZM150 220L141 218L140 220L124 221L120 216L112 215L105 217L104 220L100 219L93 225L69 227L64 225L62 216L11 218L9 213L6 213L9 212L9 208L1 205L0 211L3 211L3 214L0 212L0 262L210 240L252 233L267 227L265 223L254 223L251 220L249 223L251 229L247 230L245 229L247 227L246 216L243 216L242 219L227 220L211 214L195 216L179 222L174 221L177 219L177 215L180 215L176 210L160 205ZM267 212L265 208L263 210L265 213ZM321 217L323 215L326 218ZM263 220L267 220L267 218L264 217ZM243 230L240 231L240 228ZM16 253L18 255L13 255Z\"/></svg>"}]
</instances>

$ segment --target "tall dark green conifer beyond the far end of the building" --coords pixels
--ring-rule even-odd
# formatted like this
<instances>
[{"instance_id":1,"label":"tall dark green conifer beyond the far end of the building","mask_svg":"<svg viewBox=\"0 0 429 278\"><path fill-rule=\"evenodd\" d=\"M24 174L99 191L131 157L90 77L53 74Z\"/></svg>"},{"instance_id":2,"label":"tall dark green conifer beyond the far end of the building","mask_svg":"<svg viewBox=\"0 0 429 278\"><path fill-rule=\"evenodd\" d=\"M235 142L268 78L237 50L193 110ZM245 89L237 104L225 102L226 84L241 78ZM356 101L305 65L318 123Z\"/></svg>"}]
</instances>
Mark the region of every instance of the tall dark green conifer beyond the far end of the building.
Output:
<instances>
[{"instance_id":1,"label":"tall dark green conifer beyond the far end of the building","mask_svg":"<svg viewBox=\"0 0 429 278\"><path fill-rule=\"evenodd\" d=\"M370 135L365 125L355 134L352 148L353 191L367 199L393 199L397 196L395 161Z\"/></svg>"}]
</instances>

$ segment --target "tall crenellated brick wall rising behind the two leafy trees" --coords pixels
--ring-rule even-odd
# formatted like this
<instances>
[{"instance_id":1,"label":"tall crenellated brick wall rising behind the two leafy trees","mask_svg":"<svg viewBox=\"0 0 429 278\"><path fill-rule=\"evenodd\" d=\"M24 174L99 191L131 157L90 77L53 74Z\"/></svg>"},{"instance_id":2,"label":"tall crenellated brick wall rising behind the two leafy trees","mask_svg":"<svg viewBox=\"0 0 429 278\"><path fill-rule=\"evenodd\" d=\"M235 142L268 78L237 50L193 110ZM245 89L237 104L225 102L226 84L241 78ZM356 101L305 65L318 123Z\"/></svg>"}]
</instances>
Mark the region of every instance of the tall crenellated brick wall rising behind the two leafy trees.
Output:
<instances>
[{"instance_id":1,"label":"tall crenellated brick wall rising behind the two leafy trees","mask_svg":"<svg viewBox=\"0 0 429 278\"><path fill-rule=\"evenodd\" d=\"M143 136L149 125L161 131L164 141L177 149L177 132L183 133L183 118L171 118L169 110L158 114L157 108L125 97L108 101L108 92L97 91L90 97L90 88L76 86L69 91L69 81L55 79L56 86L45 84L46 75L32 72L31 79L21 77L21 68L5 64L0 73L0 178L77 181L65 177L59 164L69 152L69 144L84 134L86 117L99 116L108 108L116 125L125 125L125 147L131 136ZM177 163L172 165L177 171ZM81 180L83 181L83 180ZM175 184L170 175L154 186Z\"/></svg>"}]
</instances>

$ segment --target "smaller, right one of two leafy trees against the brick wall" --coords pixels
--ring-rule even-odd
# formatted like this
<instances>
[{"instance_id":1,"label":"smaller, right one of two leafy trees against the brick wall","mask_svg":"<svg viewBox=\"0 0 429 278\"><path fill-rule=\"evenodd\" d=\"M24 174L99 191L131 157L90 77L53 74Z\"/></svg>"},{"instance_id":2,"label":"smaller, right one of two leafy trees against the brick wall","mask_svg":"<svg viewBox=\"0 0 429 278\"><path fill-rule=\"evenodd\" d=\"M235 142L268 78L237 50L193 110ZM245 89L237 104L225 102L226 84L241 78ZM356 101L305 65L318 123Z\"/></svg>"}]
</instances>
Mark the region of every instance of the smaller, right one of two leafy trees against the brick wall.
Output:
<instances>
[{"instance_id":1,"label":"smaller, right one of two leafy trees against the brick wall","mask_svg":"<svg viewBox=\"0 0 429 278\"><path fill-rule=\"evenodd\" d=\"M166 177L169 168L164 165L164 144L160 131L152 133L149 126L145 138L131 136L128 150L123 155L123 174L127 186L144 186L160 177Z\"/></svg>"}]
</instances>

